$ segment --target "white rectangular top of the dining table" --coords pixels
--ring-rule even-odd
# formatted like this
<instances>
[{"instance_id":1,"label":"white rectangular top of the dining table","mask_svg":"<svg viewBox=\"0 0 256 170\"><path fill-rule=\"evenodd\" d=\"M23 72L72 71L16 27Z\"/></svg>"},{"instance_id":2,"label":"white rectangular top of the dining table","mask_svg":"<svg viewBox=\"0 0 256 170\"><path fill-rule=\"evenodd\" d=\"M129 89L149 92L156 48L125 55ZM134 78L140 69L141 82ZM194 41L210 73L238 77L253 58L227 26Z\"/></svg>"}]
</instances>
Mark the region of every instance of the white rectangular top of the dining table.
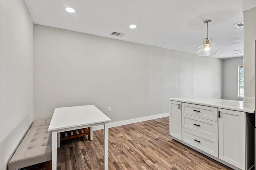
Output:
<instances>
[{"instance_id":1,"label":"white rectangular top of the dining table","mask_svg":"<svg viewBox=\"0 0 256 170\"><path fill-rule=\"evenodd\" d=\"M94 105L55 108L49 131L111 121Z\"/></svg>"}]
</instances>

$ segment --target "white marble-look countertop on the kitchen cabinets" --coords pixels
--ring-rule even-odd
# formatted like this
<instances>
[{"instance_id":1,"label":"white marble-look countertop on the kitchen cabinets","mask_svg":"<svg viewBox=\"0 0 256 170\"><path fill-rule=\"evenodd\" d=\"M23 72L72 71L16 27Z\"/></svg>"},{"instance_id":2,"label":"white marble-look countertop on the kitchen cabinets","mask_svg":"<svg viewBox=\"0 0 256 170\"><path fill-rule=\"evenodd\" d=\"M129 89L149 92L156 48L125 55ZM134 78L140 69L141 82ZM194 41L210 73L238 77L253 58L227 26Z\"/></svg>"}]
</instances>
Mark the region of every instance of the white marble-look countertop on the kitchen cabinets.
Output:
<instances>
[{"instance_id":1,"label":"white marble-look countertop on the kitchen cabinets","mask_svg":"<svg viewBox=\"0 0 256 170\"><path fill-rule=\"evenodd\" d=\"M254 110L255 110L254 104L244 103L243 101L236 101L236 100L224 100L224 99L214 99L214 98L194 98L194 97L170 98L169 100L204 105L204 106L218 107L222 109L243 111L248 113L254 113Z\"/></svg>"}]
</instances>

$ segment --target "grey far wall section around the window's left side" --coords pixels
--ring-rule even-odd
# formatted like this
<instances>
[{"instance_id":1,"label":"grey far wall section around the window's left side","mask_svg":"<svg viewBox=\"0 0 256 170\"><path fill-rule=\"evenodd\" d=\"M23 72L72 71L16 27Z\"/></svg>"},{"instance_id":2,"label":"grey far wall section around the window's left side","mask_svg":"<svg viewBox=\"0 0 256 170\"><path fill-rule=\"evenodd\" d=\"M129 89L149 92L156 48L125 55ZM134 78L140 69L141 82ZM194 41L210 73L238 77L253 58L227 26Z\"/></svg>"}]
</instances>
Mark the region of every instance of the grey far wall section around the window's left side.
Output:
<instances>
[{"instance_id":1,"label":"grey far wall section around the window's left side","mask_svg":"<svg viewBox=\"0 0 256 170\"><path fill-rule=\"evenodd\" d=\"M240 100L238 98L238 66L243 65L243 57L223 59L222 98Z\"/></svg>"}]
</instances>

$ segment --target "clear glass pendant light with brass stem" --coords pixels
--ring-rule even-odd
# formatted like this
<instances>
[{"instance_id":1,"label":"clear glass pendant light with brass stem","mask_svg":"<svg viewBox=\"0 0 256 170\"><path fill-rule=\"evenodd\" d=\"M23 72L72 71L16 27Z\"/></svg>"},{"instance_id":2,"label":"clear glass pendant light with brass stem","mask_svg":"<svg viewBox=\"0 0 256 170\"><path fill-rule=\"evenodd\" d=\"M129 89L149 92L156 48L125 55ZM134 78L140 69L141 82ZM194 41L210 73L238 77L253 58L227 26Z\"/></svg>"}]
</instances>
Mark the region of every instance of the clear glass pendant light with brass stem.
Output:
<instances>
[{"instance_id":1,"label":"clear glass pendant light with brass stem","mask_svg":"<svg viewBox=\"0 0 256 170\"><path fill-rule=\"evenodd\" d=\"M209 42L209 39L212 40L212 38L208 38L208 23L210 23L212 20L206 20L204 21L204 24L207 24L207 32L206 32L206 38L203 41L203 45L201 45L199 47L199 51L197 52L197 55L200 56L209 56L212 54L216 54L219 52L219 50L217 49L217 45Z\"/></svg>"}]
</instances>

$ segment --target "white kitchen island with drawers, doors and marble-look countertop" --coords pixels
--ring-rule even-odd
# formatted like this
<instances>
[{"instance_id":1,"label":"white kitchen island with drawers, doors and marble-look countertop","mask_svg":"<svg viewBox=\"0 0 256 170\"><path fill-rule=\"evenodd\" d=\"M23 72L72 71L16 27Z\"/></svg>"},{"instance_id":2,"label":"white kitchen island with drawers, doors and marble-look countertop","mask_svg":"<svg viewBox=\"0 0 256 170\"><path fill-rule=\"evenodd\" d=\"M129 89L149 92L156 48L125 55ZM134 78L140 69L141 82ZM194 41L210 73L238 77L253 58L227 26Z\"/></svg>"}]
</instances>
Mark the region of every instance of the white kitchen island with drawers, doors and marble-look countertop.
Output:
<instances>
[{"instance_id":1,"label":"white kitchen island with drawers, doors and marble-look countertop","mask_svg":"<svg viewBox=\"0 0 256 170\"><path fill-rule=\"evenodd\" d=\"M170 135L236 170L254 166L254 104L170 98Z\"/></svg>"}]
</instances>

